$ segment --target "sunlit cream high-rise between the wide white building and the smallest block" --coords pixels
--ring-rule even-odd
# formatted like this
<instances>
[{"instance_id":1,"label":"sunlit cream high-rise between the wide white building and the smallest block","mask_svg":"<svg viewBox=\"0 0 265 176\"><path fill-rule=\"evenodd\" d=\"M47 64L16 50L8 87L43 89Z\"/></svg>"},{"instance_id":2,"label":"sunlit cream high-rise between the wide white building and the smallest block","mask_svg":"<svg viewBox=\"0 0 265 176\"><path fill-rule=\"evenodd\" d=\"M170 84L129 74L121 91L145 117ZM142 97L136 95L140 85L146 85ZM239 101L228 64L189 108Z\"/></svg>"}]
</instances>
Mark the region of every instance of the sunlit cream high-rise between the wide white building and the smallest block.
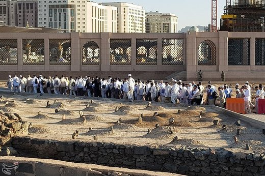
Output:
<instances>
[{"instance_id":1,"label":"sunlit cream high-rise between the wide white building and the smallest block","mask_svg":"<svg viewBox=\"0 0 265 176\"><path fill-rule=\"evenodd\" d=\"M129 3L102 3L118 8L118 33L145 33L145 10Z\"/></svg>"}]
</instances>

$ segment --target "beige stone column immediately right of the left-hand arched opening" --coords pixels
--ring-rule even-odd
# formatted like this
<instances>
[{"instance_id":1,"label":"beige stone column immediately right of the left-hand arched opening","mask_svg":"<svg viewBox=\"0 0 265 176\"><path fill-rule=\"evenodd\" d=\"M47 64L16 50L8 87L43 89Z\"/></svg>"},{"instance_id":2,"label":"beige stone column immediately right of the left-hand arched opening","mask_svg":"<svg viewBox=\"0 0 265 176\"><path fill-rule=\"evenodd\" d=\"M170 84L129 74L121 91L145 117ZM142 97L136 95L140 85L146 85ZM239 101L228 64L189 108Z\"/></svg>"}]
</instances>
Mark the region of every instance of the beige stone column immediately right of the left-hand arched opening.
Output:
<instances>
[{"instance_id":1,"label":"beige stone column immediately right of the left-hand arched opening","mask_svg":"<svg viewBox=\"0 0 265 176\"><path fill-rule=\"evenodd\" d=\"M101 71L110 71L110 33L101 33Z\"/></svg>"}]
</instances>

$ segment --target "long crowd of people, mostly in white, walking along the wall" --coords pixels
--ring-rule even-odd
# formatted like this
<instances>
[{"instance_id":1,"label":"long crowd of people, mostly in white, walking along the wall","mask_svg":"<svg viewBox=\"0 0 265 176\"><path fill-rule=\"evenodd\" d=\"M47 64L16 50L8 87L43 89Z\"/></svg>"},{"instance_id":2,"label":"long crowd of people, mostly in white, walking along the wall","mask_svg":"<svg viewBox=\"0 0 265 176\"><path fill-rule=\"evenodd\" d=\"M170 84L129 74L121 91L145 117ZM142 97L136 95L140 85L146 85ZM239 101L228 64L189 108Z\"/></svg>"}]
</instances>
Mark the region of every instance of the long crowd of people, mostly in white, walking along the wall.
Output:
<instances>
[{"instance_id":1,"label":"long crowd of people, mostly in white, walking along the wall","mask_svg":"<svg viewBox=\"0 0 265 176\"><path fill-rule=\"evenodd\" d=\"M181 80L172 79L171 82L160 82L147 80L146 82L140 79L135 80L131 74L123 80L120 78L108 79L99 77L82 76L73 78L72 76L65 77L43 77L33 75L28 78L20 75L14 75L13 78L9 75L7 87L11 92L27 92L41 94L64 94L74 96L102 97L127 99L128 101L143 100L143 101L159 101L165 103L182 103L186 105L216 105L216 100L220 102L219 106L226 107L226 99L231 98L233 89L227 84L220 87L214 86L211 81L208 82L206 88L206 98L203 102L204 86L202 82L184 83ZM237 83L234 87L235 97L244 98L245 107L248 113L251 112L251 107L258 109L258 100L264 98L263 86L255 86L256 96L255 106L251 102L251 86L247 81L243 86ZM219 93L218 93L219 92Z\"/></svg>"}]
</instances>

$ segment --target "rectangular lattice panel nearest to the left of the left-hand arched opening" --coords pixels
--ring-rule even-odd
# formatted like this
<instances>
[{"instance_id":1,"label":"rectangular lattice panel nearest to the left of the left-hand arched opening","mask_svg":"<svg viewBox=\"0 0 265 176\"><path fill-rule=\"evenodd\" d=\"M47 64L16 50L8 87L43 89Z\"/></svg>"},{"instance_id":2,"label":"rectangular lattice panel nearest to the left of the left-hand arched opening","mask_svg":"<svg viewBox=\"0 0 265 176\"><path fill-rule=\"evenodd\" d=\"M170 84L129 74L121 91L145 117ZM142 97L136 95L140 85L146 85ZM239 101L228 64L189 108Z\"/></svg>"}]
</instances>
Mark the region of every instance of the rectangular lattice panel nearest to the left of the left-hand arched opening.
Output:
<instances>
[{"instance_id":1,"label":"rectangular lattice panel nearest to the left of the left-hand arched opening","mask_svg":"<svg viewBox=\"0 0 265 176\"><path fill-rule=\"evenodd\" d=\"M50 65L71 64L71 40L50 39L49 40L49 62Z\"/></svg>"}]
</instances>

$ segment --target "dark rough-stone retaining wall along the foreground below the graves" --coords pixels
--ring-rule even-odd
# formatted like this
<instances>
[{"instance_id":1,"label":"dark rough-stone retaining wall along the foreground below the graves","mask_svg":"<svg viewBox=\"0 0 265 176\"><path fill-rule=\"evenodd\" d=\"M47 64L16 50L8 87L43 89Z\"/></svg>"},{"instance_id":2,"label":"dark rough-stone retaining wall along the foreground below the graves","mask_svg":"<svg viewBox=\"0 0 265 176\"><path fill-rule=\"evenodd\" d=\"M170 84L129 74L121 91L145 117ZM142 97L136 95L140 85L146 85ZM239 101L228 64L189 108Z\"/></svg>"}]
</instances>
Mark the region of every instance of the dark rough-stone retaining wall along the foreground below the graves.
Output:
<instances>
[{"instance_id":1,"label":"dark rough-stone retaining wall along the foreground below the graves","mask_svg":"<svg viewBox=\"0 0 265 176\"><path fill-rule=\"evenodd\" d=\"M264 175L265 156L197 148L150 148L103 142L62 142L16 137L22 157L93 163L112 167L166 171L186 175Z\"/></svg>"}]
</instances>

